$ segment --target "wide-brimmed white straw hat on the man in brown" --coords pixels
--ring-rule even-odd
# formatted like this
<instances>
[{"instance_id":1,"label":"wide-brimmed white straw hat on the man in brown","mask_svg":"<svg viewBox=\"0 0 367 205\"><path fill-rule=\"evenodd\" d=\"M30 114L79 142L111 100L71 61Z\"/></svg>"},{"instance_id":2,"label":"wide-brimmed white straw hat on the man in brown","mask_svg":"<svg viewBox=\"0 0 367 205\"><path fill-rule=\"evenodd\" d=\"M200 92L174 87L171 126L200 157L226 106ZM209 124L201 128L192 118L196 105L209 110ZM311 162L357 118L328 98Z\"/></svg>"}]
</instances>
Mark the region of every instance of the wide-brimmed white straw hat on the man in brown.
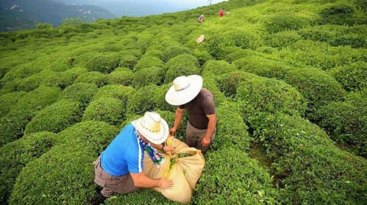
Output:
<instances>
[{"instance_id":1,"label":"wide-brimmed white straw hat on the man in brown","mask_svg":"<svg viewBox=\"0 0 367 205\"><path fill-rule=\"evenodd\" d=\"M193 100L203 87L203 78L198 75L180 76L166 93L166 101L171 105L184 105Z\"/></svg>"}]
</instances>

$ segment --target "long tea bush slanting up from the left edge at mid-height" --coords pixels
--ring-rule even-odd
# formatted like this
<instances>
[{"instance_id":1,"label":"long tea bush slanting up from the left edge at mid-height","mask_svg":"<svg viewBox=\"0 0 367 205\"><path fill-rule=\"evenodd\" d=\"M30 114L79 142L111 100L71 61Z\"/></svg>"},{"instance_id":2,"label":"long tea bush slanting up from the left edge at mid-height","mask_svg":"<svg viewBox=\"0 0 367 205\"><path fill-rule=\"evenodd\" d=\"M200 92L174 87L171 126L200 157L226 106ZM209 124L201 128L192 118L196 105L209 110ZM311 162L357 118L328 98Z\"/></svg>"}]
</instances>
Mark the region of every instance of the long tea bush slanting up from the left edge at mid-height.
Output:
<instances>
[{"instance_id":1,"label":"long tea bush slanting up from the left edge at mid-height","mask_svg":"<svg viewBox=\"0 0 367 205\"><path fill-rule=\"evenodd\" d=\"M23 95L9 113L0 118L0 145L21 137L27 123L36 112L54 103L59 95L61 95L59 88L50 87L40 87Z\"/></svg>"}]
</instances>

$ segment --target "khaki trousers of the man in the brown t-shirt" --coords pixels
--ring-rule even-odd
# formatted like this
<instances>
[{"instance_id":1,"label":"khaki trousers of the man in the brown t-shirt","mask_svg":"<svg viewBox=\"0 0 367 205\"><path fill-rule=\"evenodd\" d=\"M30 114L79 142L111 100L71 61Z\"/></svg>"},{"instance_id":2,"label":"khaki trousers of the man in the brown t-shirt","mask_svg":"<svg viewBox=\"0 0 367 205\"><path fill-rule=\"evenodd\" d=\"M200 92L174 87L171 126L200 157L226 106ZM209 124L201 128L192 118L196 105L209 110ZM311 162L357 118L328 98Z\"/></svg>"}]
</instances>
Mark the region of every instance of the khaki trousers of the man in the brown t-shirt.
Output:
<instances>
[{"instance_id":1,"label":"khaki trousers of the man in the brown t-shirt","mask_svg":"<svg viewBox=\"0 0 367 205\"><path fill-rule=\"evenodd\" d=\"M217 133L217 128L214 129L213 134L210 136L210 144L207 147L201 146L201 140L205 137L207 130L206 129L197 129L193 127L189 121L187 121L186 126L186 144L190 147L195 147L198 150L201 150L202 153L210 147L215 138L215 134Z\"/></svg>"}]
</instances>

